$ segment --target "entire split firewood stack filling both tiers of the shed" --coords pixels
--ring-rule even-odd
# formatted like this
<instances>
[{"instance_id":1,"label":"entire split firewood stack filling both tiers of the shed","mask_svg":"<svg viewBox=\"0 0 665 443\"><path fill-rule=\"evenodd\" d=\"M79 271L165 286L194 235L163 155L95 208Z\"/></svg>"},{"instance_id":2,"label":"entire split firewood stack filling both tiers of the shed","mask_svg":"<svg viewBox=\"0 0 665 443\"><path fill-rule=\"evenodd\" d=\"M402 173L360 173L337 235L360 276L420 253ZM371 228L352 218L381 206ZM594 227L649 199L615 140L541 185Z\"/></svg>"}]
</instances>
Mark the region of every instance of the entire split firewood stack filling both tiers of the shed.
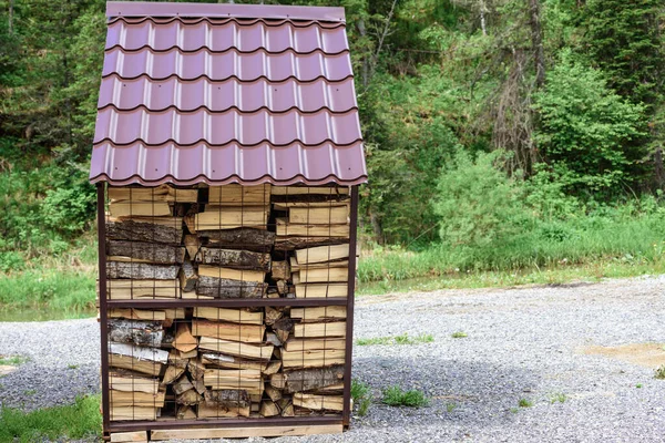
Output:
<instances>
[{"instance_id":1,"label":"entire split firewood stack filling both tiers of the shed","mask_svg":"<svg viewBox=\"0 0 665 443\"><path fill-rule=\"evenodd\" d=\"M348 188L110 187L111 420L339 414L346 307L167 308L347 297ZM268 300L266 300L268 301Z\"/></svg>"}]
</instances>

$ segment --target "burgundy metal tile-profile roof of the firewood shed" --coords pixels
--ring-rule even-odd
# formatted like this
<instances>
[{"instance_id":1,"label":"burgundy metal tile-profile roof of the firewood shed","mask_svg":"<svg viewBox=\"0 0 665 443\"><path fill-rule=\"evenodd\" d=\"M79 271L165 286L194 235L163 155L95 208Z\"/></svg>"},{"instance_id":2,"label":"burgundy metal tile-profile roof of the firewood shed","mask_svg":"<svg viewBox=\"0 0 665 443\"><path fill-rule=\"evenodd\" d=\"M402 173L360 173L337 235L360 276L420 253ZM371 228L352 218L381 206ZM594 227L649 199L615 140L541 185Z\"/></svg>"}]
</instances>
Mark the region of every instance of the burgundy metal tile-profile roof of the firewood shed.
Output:
<instances>
[{"instance_id":1,"label":"burgundy metal tile-profile roof of the firewood shed","mask_svg":"<svg viewBox=\"0 0 665 443\"><path fill-rule=\"evenodd\" d=\"M91 182L367 179L341 8L109 2Z\"/></svg>"}]
</instances>

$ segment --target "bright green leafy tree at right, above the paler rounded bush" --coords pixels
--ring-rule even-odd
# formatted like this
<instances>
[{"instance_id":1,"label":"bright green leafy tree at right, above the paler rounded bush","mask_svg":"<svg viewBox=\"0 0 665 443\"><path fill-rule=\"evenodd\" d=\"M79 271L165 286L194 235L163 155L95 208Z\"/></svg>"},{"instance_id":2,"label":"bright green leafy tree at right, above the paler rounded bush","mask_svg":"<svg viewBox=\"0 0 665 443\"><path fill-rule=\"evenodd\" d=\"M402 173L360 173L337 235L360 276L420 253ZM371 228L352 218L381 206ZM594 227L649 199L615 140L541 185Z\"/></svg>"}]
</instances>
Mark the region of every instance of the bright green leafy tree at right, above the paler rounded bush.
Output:
<instances>
[{"instance_id":1,"label":"bright green leafy tree at right, above the paler rounded bush","mask_svg":"<svg viewBox=\"0 0 665 443\"><path fill-rule=\"evenodd\" d=\"M600 71L569 52L550 71L545 90L534 94L534 109L541 119L535 141L569 193L616 193L631 181L630 166L646 154L624 148L644 135L644 107L616 95Z\"/></svg>"}]
</instances>

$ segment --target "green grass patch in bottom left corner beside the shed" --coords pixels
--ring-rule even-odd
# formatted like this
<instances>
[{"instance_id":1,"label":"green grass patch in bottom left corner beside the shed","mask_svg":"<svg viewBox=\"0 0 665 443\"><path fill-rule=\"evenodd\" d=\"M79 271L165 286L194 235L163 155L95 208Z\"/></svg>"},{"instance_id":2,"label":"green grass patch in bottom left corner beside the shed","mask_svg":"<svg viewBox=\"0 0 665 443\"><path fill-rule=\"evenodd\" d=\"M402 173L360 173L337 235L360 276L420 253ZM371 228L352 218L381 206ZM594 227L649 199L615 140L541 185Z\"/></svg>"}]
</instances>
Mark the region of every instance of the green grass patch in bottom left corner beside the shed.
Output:
<instances>
[{"instance_id":1,"label":"green grass patch in bottom left corner beside the shed","mask_svg":"<svg viewBox=\"0 0 665 443\"><path fill-rule=\"evenodd\" d=\"M99 436L102 430L100 396L76 399L74 404L22 412L0 410L0 442L75 440Z\"/></svg>"}]
</instances>

